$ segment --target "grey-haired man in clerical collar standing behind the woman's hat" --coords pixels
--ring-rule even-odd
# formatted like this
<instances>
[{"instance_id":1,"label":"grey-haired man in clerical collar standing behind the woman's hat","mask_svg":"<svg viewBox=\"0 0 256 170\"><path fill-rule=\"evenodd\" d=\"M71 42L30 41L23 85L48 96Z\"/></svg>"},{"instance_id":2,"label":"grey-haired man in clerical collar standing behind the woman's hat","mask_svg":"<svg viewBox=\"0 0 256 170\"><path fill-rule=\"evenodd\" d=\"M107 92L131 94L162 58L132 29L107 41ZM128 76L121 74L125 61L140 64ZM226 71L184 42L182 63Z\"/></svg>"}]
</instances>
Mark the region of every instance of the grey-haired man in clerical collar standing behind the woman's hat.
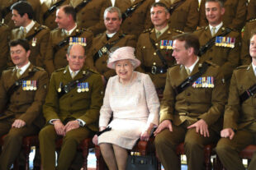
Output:
<instances>
[{"instance_id":1,"label":"grey-haired man in clerical collar standing behind the woman's hat","mask_svg":"<svg viewBox=\"0 0 256 170\"><path fill-rule=\"evenodd\" d=\"M115 76L116 72L107 68L108 54L111 48L135 47L135 35L124 34L121 27L121 11L117 7L108 7L104 12L104 24L107 30L92 41L86 64L97 70L105 80Z\"/></svg>"}]
</instances>

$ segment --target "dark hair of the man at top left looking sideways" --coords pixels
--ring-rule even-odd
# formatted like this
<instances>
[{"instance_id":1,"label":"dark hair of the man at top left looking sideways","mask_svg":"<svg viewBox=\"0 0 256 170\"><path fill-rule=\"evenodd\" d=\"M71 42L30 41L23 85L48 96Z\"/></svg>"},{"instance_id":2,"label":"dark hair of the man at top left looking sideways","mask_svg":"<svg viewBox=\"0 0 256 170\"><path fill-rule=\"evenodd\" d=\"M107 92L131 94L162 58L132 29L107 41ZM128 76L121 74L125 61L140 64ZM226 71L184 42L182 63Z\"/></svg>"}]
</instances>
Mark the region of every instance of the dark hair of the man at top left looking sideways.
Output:
<instances>
[{"instance_id":1,"label":"dark hair of the man at top left looking sideways","mask_svg":"<svg viewBox=\"0 0 256 170\"><path fill-rule=\"evenodd\" d=\"M29 2L19 1L12 5L11 10L16 10L20 16L27 14L30 20L33 19L34 11Z\"/></svg>"}]
</instances>

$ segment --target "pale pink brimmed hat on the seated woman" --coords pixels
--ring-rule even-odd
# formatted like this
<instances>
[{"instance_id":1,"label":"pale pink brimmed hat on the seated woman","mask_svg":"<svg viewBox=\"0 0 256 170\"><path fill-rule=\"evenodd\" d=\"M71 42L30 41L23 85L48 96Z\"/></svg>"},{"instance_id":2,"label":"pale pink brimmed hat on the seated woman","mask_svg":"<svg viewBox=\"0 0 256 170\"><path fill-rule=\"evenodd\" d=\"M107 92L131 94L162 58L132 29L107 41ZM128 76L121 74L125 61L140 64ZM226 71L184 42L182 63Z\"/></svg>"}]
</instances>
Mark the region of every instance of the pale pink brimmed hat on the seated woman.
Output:
<instances>
[{"instance_id":1,"label":"pale pink brimmed hat on the seated woman","mask_svg":"<svg viewBox=\"0 0 256 170\"><path fill-rule=\"evenodd\" d=\"M121 47L109 54L107 67L115 69L115 62L119 60L133 60L135 68L140 66L140 60L135 57L135 48Z\"/></svg>"}]
</instances>

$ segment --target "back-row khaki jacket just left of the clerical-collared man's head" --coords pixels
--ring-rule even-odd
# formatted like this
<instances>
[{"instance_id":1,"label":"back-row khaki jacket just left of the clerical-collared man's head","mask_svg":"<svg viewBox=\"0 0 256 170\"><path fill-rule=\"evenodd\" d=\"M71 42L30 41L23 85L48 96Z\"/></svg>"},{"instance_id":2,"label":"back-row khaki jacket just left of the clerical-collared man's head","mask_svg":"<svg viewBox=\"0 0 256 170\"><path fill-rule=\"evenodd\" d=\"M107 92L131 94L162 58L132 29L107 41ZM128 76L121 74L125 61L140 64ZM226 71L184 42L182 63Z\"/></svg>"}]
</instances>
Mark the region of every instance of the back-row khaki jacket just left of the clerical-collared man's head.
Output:
<instances>
[{"instance_id":1,"label":"back-row khaki jacket just left of the clerical-collared man's head","mask_svg":"<svg viewBox=\"0 0 256 170\"><path fill-rule=\"evenodd\" d=\"M70 0L70 5L77 7L83 0ZM106 30L103 15L107 7L111 7L109 0L90 1L77 13L77 23L81 28L92 30L93 34L99 34Z\"/></svg>"}]
</instances>

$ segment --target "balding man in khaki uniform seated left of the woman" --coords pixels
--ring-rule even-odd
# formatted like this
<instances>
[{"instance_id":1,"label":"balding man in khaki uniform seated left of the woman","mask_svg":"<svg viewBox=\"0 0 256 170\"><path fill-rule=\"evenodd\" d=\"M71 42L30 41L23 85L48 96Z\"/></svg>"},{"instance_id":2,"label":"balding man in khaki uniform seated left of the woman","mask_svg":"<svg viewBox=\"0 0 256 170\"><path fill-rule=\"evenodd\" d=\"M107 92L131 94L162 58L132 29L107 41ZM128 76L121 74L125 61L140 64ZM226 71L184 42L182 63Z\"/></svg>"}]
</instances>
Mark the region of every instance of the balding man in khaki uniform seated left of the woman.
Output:
<instances>
[{"instance_id":1,"label":"balding man in khaki uniform seated left of the woman","mask_svg":"<svg viewBox=\"0 0 256 170\"><path fill-rule=\"evenodd\" d=\"M63 144L56 169L68 170L80 142L98 131L103 98L102 78L83 66L84 59L83 46L69 46L69 66L53 72L51 76L43 107L47 124L39 135L44 170L55 169L55 140L59 136L63 136Z\"/></svg>"}]
</instances>

